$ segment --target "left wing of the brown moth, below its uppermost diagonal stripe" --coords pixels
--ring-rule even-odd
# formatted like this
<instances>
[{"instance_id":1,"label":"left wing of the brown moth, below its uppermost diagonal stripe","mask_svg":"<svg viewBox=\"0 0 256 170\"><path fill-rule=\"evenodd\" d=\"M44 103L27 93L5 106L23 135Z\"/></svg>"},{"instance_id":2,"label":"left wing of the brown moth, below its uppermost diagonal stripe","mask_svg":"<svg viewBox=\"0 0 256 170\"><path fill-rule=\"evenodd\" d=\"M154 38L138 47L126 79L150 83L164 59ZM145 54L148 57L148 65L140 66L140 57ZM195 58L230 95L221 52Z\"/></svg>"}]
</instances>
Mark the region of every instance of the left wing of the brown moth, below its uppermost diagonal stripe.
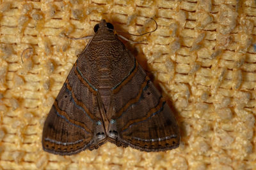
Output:
<instances>
[{"instance_id":1,"label":"left wing of the brown moth, below its uppermost diagonal stripe","mask_svg":"<svg viewBox=\"0 0 256 170\"><path fill-rule=\"evenodd\" d=\"M77 62L47 116L42 134L45 151L72 155L106 141L97 93L77 71Z\"/></svg>"}]
</instances>

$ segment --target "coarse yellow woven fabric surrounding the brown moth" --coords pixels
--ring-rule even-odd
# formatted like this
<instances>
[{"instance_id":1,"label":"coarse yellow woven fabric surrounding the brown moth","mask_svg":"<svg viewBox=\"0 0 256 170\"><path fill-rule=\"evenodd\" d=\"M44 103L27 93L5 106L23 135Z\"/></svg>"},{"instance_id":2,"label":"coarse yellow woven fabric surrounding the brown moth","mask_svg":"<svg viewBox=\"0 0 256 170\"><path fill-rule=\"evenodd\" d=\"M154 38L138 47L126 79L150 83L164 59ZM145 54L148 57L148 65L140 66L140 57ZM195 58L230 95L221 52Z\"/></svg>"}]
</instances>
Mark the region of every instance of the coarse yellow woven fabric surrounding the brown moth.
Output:
<instances>
[{"instance_id":1,"label":"coarse yellow woven fabric surrounding the brown moth","mask_svg":"<svg viewBox=\"0 0 256 170\"><path fill-rule=\"evenodd\" d=\"M0 1L0 169L256 169L253 0ZM169 99L180 147L111 143L70 157L42 150L45 117L102 18L138 34L127 48ZM24 63L22 63L22 60Z\"/></svg>"}]
</instances>

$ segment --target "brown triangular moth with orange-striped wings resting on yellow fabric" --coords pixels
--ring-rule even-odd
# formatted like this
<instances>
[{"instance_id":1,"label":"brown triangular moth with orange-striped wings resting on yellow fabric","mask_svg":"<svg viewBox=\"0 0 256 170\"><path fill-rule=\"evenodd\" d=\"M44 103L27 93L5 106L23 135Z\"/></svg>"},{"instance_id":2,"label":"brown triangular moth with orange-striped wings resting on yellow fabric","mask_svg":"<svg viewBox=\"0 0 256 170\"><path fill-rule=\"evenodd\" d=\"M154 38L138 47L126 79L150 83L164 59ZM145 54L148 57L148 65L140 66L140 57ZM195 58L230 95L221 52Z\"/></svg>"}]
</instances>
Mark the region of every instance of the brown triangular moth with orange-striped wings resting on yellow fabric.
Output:
<instances>
[{"instance_id":1,"label":"brown triangular moth with orange-striped wings resting on yellow fabric","mask_svg":"<svg viewBox=\"0 0 256 170\"><path fill-rule=\"evenodd\" d=\"M46 152L72 155L110 141L145 152L179 146L172 110L137 60L101 20L45 120Z\"/></svg>"}]
</instances>

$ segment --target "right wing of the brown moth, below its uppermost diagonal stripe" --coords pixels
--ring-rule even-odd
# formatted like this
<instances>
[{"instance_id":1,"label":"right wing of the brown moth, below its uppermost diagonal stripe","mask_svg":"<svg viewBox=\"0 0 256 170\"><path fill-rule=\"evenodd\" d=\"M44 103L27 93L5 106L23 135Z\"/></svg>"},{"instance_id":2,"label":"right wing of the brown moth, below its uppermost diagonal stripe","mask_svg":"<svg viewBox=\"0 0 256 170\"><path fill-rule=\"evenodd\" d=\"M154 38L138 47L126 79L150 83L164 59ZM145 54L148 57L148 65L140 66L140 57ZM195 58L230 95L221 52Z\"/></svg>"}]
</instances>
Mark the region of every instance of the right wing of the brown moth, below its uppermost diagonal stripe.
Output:
<instances>
[{"instance_id":1,"label":"right wing of the brown moth, below its uppermost diagonal stripe","mask_svg":"<svg viewBox=\"0 0 256 170\"><path fill-rule=\"evenodd\" d=\"M180 133L172 110L136 62L135 73L113 90L111 142L145 152L177 148Z\"/></svg>"}]
</instances>

